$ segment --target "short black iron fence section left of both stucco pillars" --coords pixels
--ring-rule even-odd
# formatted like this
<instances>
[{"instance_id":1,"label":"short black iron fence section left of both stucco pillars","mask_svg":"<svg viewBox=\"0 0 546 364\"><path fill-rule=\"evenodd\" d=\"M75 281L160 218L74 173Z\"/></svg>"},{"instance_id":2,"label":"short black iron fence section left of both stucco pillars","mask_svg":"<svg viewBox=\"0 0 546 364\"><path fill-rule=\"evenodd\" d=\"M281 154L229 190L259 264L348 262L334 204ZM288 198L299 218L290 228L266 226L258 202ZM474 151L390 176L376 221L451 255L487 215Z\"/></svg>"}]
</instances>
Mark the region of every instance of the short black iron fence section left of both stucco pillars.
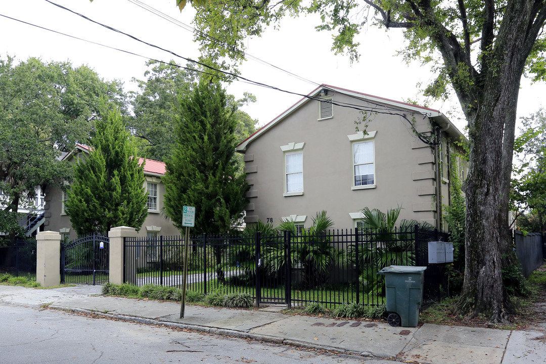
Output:
<instances>
[{"instance_id":1,"label":"short black iron fence section left of both stucco pillars","mask_svg":"<svg viewBox=\"0 0 546 364\"><path fill-rule=\"evenodd\" d=\"M0 273L36 280L36 241L16 239L9 246L0 247Z\"/></svg>"}]
</instances>

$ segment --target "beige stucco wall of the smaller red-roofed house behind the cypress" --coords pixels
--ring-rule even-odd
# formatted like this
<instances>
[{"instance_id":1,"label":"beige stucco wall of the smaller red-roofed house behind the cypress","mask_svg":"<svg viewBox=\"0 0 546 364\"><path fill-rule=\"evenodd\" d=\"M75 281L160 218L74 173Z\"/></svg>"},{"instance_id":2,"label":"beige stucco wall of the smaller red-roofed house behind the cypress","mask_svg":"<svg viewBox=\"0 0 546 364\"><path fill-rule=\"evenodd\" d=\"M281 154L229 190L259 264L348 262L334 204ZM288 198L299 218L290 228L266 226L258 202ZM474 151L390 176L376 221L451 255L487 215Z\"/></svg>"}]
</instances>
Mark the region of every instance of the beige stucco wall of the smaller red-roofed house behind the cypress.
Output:
<instances>
[{"instance_id":1,"label":"beige stucco wall of the smaller red-roofed house behind the cypress","mask_svg":"<svg viewBox=\"0 0 546 364\"><path fill-rule=\"evenodd\" d=\"M158 206L157 210L149 211L143 226L137 232L137 236L145 237L148 230L157 231L158 235L181 235L180 231L170 222L161 216L163 208L163 198L165 195L165 186L161 183L159 176L146 176L150 181L158 183ZM144 183L144 188L146 188ZM62 211L62 193L61 188L57 186L48 186L45 192L45 226L44 230L64 232L69 229L70 239L75 239L76 232L70 224L68 215Z\"/></svg>"}]
</instances>

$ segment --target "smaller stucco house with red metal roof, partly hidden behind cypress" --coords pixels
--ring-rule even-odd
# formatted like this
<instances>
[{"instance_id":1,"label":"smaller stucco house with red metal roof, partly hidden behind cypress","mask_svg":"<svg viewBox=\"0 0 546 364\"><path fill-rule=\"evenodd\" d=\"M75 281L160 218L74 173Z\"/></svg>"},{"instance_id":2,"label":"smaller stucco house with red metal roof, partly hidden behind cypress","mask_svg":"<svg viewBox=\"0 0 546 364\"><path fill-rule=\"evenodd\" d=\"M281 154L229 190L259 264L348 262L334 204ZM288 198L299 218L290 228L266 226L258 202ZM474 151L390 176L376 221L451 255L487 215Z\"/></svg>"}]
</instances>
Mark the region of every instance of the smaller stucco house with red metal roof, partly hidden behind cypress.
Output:
<instances>
[{"instance_id":1,"label":"smaller stucco house with red metal roof, partly hidden behind cypress","mask_svg":"<svg viewBox=\"0 0 546 364\"><path fill-rule=\"evenodd\" d=\"M89 147L86 145L76 145L74 151L64 155L61 160L75 162L75 160L84 159L89 153ZM163 196L165 195L165 186L161 178L165 175L165 163L152 159L139 158L140 163L144 160L144 176L146 182L144 188L148 194L148 216L143 226L138 232L138 236L157 237L159 235L180 235L169 219L161 214L163 208ZM76 231L70 224L70 218L64 212L64 202L67 200L67 193L60 187L48 186L45 191L45 230L59 231L63 238L74 240Z\"/></svg>"}]
</instances>

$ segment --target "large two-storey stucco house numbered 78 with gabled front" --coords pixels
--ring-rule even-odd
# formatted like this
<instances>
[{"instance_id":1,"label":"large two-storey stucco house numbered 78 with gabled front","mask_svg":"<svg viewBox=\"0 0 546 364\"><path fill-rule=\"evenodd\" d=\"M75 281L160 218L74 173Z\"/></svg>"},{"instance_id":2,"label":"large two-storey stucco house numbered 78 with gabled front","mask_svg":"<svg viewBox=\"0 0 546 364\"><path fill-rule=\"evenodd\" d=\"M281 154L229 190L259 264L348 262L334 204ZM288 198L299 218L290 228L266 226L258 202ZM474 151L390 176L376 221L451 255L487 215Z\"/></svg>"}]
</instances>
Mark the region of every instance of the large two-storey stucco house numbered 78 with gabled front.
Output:
<instances>
[{"instance_id":1,"label":"large two-storey stucco house numbered 78 with gabled front","mask_svg":"<svg viewBox=\"0 0 546 364\"><path fill-rule=\"evenodd\" d=\"M246 223L308 228L326 210L336 228L354 228L364 207L401 206L399 220L446 230L450 151L461 138L440 111L321 85L237 146L251 185Z\"/></svg>"}]
</instances>

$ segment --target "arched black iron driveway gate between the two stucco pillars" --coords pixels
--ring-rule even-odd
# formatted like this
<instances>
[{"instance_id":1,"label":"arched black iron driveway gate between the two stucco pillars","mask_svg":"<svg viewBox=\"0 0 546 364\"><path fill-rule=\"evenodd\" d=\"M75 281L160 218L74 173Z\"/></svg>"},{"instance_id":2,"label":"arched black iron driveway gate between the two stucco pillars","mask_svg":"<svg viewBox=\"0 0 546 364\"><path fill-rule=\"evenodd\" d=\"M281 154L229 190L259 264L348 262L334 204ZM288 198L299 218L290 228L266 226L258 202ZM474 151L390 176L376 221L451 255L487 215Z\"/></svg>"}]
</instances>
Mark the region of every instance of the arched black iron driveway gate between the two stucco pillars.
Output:
<instances>
[{"instance_id":1,"label":"arched black iron driveway gate between the two stucco pillars","mask_svg":"<svg viewBox=\"0 0 546 364\"><path fill-rule=\"evenodd\" d=\"M104 284L109 277L110 238L88 235L61 243L61 283Z\"/></svg>"}]
</instances>

